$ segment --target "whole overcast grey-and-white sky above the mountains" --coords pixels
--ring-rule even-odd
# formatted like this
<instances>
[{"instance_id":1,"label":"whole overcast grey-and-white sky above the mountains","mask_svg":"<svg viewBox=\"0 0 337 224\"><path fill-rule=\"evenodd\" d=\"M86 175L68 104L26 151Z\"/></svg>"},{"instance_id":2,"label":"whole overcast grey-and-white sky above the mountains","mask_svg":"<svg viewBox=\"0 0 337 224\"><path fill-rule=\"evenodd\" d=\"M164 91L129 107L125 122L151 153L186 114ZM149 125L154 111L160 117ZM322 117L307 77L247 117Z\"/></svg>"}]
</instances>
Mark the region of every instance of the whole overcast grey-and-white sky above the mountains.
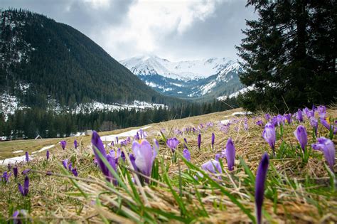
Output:
<instances>
[{"instance_id":1,"label":"whole overcast grey-and-white sky above the mountains","mask_svg":"<svg viewBox=\"0 0 337 224\"><path fill-rule=\"evenodd\" d=\"M237 58L245 19L255 18L244 0L1 0L67 23L113 58L154 54L169 60Z\"/></svg>"}]
</instances>

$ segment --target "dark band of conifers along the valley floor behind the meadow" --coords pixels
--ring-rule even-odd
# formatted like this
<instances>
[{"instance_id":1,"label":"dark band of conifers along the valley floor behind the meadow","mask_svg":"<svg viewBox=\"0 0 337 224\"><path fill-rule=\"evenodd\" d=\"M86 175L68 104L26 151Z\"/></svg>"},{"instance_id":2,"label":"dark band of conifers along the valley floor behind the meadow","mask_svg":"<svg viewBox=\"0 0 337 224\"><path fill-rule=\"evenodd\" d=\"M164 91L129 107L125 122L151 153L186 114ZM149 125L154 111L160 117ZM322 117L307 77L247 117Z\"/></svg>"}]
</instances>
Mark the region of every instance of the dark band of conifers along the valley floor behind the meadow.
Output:
<instances>
[{"instance_id":1,"label":"dark band of conifers along the valley floor behind the meadow","mask_svg":"<svg viewBox=\"0 0 337 224\"><path fill-rule=\"evenodd\" d=\"M170 119L230 110L235 107L238 107L238 105L234 98L226 101L214 100L204 104L188 103L169 109L95 111L77 114L70 112L56 113L34 107L18 110L10 115L6 121L4 114L1 114L0 136L6 136L8 139L33 139L38 134L43 138L68 137L87 129L108 131L137 127Z\"/></svg>"}]
</instances>

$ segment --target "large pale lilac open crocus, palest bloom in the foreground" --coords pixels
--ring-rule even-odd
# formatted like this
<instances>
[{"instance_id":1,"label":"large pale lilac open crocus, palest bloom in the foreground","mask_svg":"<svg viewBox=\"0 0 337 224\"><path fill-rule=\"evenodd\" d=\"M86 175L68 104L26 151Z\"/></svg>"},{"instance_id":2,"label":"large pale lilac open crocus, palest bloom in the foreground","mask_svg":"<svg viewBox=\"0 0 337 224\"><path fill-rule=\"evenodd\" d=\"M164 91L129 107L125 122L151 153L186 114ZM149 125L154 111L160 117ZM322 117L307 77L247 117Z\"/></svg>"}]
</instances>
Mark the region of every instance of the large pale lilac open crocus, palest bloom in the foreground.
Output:
<instances>
[{"instance_id":1,"label":"large pale lilac open crocus, palest bloom in the foreground","mask_svg":"<svg viewBox=\"0 0 337 224\"><path fill-rule=\"evenodd\" d=\"M156 158L156 150L151 147L151 144L146 139L140 142L134 141L132 143L132 151L134 152L134 165L145 176L151 176L152 165ZM145 179L149 183L149 179Z\"/></svg>"}]
</instances>

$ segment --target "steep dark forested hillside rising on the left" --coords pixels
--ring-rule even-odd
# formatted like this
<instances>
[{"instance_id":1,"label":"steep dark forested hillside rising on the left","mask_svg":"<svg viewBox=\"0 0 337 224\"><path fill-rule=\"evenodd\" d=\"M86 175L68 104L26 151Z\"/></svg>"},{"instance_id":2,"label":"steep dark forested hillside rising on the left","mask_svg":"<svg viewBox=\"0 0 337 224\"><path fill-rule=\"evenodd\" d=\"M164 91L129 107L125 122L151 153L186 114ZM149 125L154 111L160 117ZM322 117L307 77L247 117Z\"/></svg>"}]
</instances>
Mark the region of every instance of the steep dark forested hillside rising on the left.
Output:
<instances>
[{"instance_id":1,"label":"steep dark forested hillside rising on the left","mask_svg":"<svg viewBox=\"0 0 337 224\"><path fill-rule=\"evenodd\" d=\"M173 104L71 26L23 10L1 11L1 90L28 107L90 102ZM118 37L115 37L118 38Z\"/></svg>"}]
</instances>

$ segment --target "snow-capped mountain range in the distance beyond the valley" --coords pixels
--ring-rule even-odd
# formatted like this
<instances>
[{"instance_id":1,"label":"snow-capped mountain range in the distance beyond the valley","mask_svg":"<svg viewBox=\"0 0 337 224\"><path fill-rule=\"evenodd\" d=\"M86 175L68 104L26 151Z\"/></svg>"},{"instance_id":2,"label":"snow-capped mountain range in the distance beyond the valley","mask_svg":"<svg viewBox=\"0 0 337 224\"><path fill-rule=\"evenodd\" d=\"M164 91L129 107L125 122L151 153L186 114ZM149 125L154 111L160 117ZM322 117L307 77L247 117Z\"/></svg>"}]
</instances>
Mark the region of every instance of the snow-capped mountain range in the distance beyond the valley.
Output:
<instances>
[{"instance_id":1,"label":"snow-capped mountain range in the distance beyond the valley","mask_svg":"<svg viewBox=\"0 0 337 224\"><path fill-rule=\"evenodd\" d=\"M146 85L178 97L218 97L242 88L240 64L230 58L171 62L156 55L120 61Z\"/></svg>"}]
</instances>

